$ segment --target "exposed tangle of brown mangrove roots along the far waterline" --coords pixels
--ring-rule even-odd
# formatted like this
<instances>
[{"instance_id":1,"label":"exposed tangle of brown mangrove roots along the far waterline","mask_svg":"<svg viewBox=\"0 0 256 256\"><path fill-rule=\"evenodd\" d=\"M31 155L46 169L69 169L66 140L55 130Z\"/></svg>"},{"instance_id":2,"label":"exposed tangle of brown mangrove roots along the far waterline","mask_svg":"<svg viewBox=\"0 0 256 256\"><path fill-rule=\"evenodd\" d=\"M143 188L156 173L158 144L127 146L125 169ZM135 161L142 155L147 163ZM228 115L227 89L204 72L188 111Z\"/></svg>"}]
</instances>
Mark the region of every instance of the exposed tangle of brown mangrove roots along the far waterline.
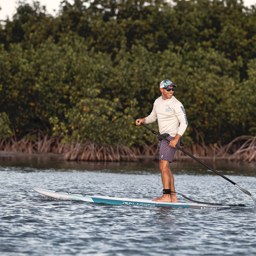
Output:
<instances>
[{"instance_id":1,"label":"exposed tangle of brown mangrove roots along the far waterline","mask_svg":"<svg viewBox=\"0 0 256 256\"><path fill-rule=\"evenodd\" d=\"M67 161L106 161L106 162L140 162L158 161L159 141L151 145L134 145L129 148L121 142L116 145L98 145L95 142L88 143L61 143L60 137L48 137L42 135L42 140L22 139L19 141L1 141L0 155L2 156L29 156L29 157L55 157L55 159ZM246 140L246 142L244 142ZM240 144L239 144L240 143ZM242 145L241 145L242 143ZM252 144L253 143L253 144ZM184 147L184 151L177 151L174 161L193 161L186 153L201 159L228 162L256 162L256 137L240 136L224 147L221 145L205 145L194 143ZM255 144L255 145L254 145Z\"/></svg>"}]
</instances>

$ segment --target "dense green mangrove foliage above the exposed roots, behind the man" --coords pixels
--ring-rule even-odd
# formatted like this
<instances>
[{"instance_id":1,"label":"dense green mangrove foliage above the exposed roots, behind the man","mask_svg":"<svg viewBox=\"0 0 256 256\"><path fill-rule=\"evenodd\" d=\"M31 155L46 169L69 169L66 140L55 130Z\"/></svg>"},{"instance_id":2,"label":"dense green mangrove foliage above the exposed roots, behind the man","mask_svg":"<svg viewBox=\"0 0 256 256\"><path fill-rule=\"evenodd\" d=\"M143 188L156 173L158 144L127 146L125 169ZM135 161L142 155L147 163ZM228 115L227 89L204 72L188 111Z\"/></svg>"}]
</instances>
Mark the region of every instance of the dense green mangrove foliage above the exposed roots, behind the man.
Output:
<instances>
[{"instance_id":1,"label":"dense green mangrove foliage above the exposed roots, behind the man","mask_svg":"<svg viewBox=\"0 0 256 256\"><path fill-rule=\"evenodd\" d=\"M255 135L255 10L237 0L75 0L52 17L20 2L0 27L0 137L40 129L64 141L152 143L134 121L151 112L163 79L186 110L185 144Z\"/></svg>"}]
</instances>

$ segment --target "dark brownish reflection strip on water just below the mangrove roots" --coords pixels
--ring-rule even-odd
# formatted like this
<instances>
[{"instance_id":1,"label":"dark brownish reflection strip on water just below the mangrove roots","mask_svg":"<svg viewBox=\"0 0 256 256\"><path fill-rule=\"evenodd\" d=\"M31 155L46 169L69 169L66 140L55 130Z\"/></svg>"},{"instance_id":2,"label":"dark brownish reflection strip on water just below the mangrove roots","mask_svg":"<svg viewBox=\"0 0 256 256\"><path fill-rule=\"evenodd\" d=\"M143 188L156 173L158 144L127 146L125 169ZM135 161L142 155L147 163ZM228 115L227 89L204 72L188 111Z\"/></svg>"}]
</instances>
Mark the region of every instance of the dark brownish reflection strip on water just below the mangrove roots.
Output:
<instances>
[{"instance_id":1,"label":"dark brownish reflection strip on water just below the mangrove roots","mask_svg":"<svg viewBox=\"0 0 256 256\"><path fill-rule=\"evenodd\" d=\"M204 161L216 171L223 175L241 175L241 176L256 176L256 163L241 163L241 162L227 162L221 160L218 163L212 161ZM33 169L50 170L58 169L59 171L66 171L70 169L87 170L87 171L101 171L101 172L125 172L137 174L146 172L159 172L158 161L143 161L140 163L127 162L77 162L77 161L63 161L60 157L41 157L41 156L1 156L0 163L4 166L12 166L23 168L24 171L32 171ZM170 164L170 168L174 174L187 175L216 175L211 170L195 160L175 161Z\"/></svg>"}]
</instances>

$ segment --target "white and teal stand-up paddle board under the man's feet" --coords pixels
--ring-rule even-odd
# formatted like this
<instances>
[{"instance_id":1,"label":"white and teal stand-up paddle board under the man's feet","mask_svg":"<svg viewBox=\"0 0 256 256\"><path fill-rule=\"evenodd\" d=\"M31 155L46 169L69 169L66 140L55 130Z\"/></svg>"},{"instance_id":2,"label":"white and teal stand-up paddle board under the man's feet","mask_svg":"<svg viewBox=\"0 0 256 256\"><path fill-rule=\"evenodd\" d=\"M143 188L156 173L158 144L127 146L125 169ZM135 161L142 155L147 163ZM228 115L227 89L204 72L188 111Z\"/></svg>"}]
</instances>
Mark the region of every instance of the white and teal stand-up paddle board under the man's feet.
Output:
<instances>
[{"instance_id":1,"label":"white and teal stand-up paddle board under the man's feet","mask_svg":"<svg viewBox=\"0 0 256 256\"><path fill-rule=\"evenodd\" d=\"M131 198L118 198L110 196L99 196L99 195L85 195L85 194L72 194L69 192L54 192L46 189L34 188L35 192L42 195L47 195L51 198L56 198L60 200L76 200L85 201L97 204L112 204L112 205L158 205L158 206L168 206L168 207L185 207L194 209L221 209L230 208L230 205L213 206L207 204L186 204L186 203L173 203L173 202L156 202L145 199L131 199Z\"/></svg>"}]
</instances>

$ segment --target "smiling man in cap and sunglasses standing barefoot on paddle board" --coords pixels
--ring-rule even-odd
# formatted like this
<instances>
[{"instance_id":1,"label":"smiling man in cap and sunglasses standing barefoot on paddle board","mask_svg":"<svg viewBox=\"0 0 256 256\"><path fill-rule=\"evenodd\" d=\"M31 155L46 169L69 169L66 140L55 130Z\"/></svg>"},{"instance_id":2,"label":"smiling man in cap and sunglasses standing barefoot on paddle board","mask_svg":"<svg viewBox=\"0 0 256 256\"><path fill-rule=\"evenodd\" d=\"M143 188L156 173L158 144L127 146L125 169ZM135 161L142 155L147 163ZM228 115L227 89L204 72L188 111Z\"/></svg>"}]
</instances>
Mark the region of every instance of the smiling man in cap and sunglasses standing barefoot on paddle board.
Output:
<instances>
[{"instance_id":1,"label":"smiling man in cap and sunglasses standing barefoot on paddle board","mask_svg":"<svg viewBox=\"0 0 256 256\"><path fill-rule=\"evenodd\" d=\"M175 145L180 145L180 137L186 131L188 121L183 105L173 96L175 88L176 85L171 80L161 81L162 96L155 100L151 114L136 120L136 125L151 124L157 120L160 134L170 140L170 143L166 140L161 140L159 143L159 168L163 182L163 196L153 201L177 202L176 194L171 193L171 191L175 192L175 187L169 163L172 163L177 150Z\"/></svg>"}]
</instances>

